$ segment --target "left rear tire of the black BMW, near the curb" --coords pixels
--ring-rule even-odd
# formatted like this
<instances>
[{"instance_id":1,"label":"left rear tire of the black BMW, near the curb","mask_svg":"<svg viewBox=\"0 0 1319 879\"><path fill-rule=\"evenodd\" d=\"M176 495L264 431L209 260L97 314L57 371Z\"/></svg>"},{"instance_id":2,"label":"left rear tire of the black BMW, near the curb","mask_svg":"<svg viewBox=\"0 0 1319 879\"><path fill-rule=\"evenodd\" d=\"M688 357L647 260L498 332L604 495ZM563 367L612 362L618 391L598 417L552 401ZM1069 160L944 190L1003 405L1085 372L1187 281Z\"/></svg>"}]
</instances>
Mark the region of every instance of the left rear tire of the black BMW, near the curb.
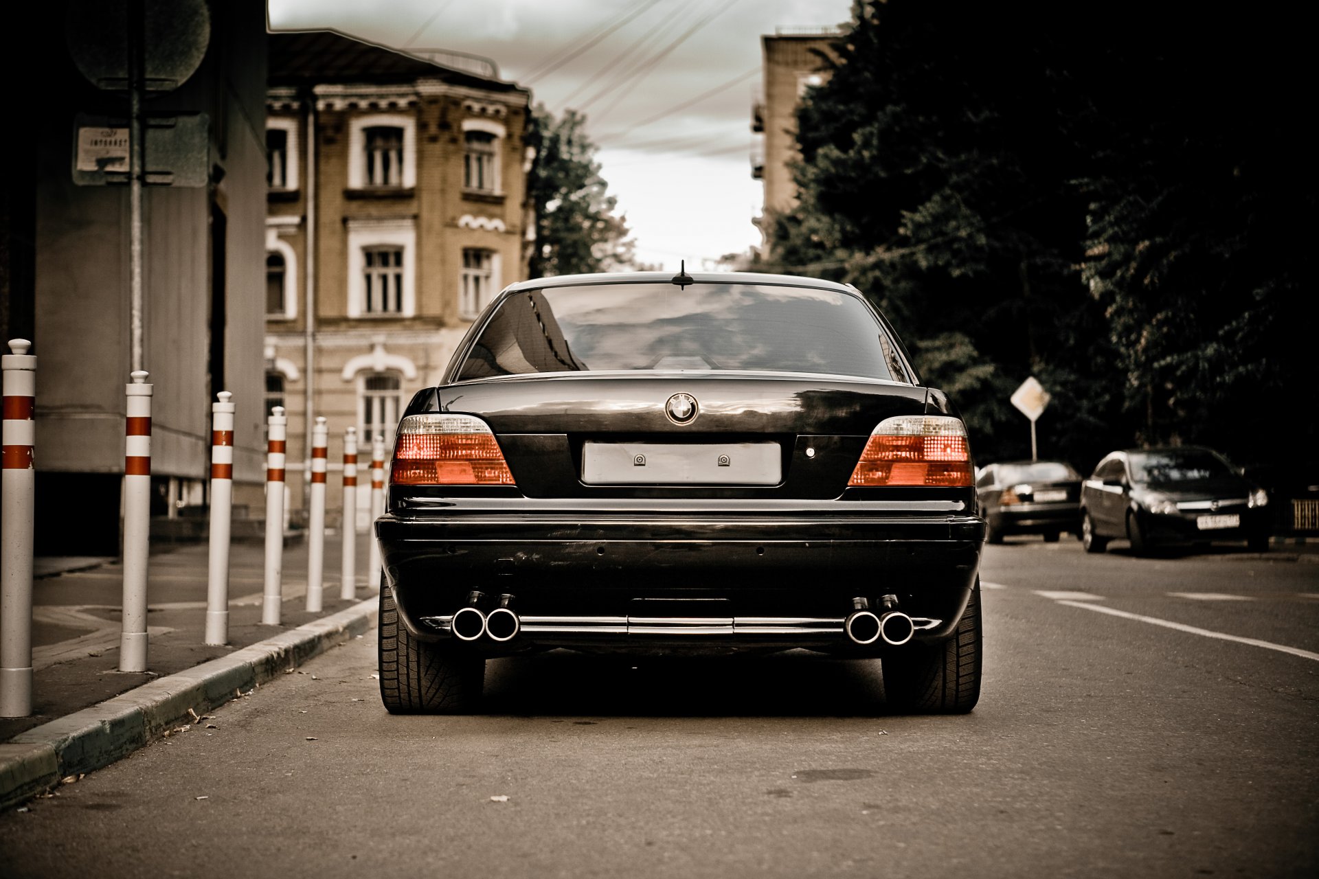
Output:
<instances>
[{"instance_id":1,"label":"left rear tire of the black BMW, near the curb","mask_svg":"<svg viewBox=\"0 0 1319 879\"><path fill-rule=\"evenodd\" d=\"M413 638L389 585L380 584L380 701L390 714L466 714L484 684L484 658Z\"/></svg>"}]
</instances>

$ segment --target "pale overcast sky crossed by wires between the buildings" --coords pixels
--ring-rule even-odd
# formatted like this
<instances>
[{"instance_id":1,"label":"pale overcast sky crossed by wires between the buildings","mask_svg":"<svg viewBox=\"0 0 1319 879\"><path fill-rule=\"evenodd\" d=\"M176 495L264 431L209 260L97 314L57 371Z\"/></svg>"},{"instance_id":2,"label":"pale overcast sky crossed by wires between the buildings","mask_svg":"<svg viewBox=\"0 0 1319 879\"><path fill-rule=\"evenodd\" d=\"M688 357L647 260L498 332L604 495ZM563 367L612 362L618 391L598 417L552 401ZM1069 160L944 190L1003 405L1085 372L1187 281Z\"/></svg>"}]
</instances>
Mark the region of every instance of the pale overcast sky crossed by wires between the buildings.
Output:
<instances>
[{"instance_id":1,"label":"pale overcast sky crossed by wires between the buildings","mask_svg":"<svg viewBox=\"0 0 1319 879\"><path fill-rule=\"evenodd\" d=\"M760 244L749 158L760 37L834 26L849 9L851 0L269 0L273 28L485 55L555 115L584 111L638 258L665 269Z\"/></svg>"}]
</instances>

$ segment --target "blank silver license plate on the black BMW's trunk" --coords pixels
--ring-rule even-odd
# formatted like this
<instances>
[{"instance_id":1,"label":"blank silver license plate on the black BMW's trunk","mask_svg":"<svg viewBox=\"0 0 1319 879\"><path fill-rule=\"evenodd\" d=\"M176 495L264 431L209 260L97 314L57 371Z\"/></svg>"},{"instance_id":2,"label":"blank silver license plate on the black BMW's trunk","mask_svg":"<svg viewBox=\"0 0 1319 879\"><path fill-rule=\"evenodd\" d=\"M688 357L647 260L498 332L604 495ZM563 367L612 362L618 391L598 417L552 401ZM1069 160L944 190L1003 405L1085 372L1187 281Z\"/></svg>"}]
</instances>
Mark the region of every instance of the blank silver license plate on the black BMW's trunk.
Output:
<instances>
[{"instance_id":1,"label":"blank silver license plate on the black BMW's trunk","mask_svg":"<svg viewBox=\"0 0 1319 879\"><path fill-rule=\"evenodd\" d=\"M586 443L587 485L778 485L778 443Z\"/></svg>"}]
</instances>

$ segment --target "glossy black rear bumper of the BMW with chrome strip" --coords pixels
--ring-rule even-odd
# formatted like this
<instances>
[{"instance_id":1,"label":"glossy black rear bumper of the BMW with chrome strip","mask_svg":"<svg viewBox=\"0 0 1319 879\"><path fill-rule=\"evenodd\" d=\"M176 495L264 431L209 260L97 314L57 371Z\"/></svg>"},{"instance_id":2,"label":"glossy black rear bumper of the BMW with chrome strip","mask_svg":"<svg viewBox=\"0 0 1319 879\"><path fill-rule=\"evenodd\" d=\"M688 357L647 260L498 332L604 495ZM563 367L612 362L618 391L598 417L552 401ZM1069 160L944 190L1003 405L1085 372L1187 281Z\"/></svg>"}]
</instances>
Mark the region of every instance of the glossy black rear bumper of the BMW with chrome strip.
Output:
<instances>
[{"instance_id":1,"label":"glossy black rear bumper of the BMW with chrome strip","mask_svg":"<svg viewBox=\"0 0 1319 879\"><path fill-rule=\"evenodd\" d=\"M534 647L847 648L852 600L898 596L914 640L956 627L984 522L969 515L429 510L376 522L404 625L451 638L472 590L522 619L489 655ZM455 639L456 640L456 639ZM882 643L872 648L880 650Z\"/></svg>"}]
</instances>

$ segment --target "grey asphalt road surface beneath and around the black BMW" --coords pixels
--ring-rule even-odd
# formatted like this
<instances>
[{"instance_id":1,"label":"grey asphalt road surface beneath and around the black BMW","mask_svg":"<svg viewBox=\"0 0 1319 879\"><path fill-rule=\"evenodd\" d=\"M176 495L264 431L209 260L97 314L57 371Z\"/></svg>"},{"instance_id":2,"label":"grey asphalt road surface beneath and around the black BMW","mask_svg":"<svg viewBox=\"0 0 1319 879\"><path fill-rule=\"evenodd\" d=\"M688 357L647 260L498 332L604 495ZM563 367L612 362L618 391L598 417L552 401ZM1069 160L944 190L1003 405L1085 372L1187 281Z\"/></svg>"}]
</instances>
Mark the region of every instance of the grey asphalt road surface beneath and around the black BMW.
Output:
<instances>
[{"instance_id":1,"label":"grey asphalt road surface beneath and around the black BMW","mask_svg":"<svg viewBox=\"0 0 1319 879\"><path fill-rule=\"evenodd\" d=\"M390 717L367 635L0 814L0 874L1319 872L1319 564L1020 542L981 576L969 716L885 714L869 662L555 652Z\"/></svg>"}]
</instances>

